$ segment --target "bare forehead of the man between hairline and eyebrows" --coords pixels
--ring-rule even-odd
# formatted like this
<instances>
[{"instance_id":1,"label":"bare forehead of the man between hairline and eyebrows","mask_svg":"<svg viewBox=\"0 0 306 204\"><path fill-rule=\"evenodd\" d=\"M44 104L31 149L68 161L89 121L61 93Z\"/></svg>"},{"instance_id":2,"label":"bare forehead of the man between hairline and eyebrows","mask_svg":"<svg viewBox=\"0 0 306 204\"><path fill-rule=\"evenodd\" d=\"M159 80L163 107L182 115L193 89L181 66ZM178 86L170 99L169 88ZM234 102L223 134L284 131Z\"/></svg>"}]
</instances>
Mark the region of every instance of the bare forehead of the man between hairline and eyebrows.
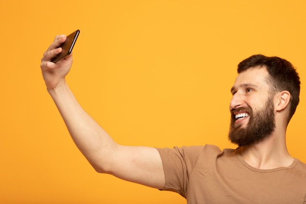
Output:
<instances>
[{"instance_id":1,"label":"bare forehead of the man between hairline and eyebrows","mask_svg":"<svg viewBox=\"0 0 306 204\"><path fill-rule=\"evenodd\" d=\"M249 68L239 73L232 89L238 89L240 86L248 84L259 87L269 87L267 82L268 77L269 73L265 67Z\"/></svg>"}]
</instances>

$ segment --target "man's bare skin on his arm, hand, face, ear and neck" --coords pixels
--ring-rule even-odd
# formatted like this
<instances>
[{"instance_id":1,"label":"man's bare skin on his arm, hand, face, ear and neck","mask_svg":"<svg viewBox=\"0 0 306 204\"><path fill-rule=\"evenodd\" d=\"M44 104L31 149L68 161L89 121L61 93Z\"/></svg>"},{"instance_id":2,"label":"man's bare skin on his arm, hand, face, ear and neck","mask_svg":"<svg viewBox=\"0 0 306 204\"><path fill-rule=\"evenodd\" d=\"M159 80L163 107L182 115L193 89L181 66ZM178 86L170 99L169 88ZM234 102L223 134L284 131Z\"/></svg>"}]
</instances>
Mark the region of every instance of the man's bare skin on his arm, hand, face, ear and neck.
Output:
<instances>
[{"instance_id":1,"label":"man's bare skin on his arm, hand, face, ear and neck","mask_svg":"<svg viewBox=\"0 0 306 204\"><path fill-rule=\"evenodd\" d=\"M100 173L108 173L126 181L150 187L165 187L165 176L159 153L151 147L123 146L114 140L79 105L66 83L66 75L72 66L72 54L58 63L50 60L62 50L59 47L66 36L56 36L52 45L44 52L41 62L42 74L47 91L61 113L75 144L93 168ZM230 109L250 106L261 107L268 93L264 68L254 68L242 72L232 88L233 98ZM245 84L256 86L248 87ZM248 88L252 89L249 90ZM242 147L241 156L256 168L277 168L292 163L285 146L286 115L290 93L282 91L274 96L276 130L252 146ZM248 118L236 121L244 127Z\"/></svg>"}]
</instances>

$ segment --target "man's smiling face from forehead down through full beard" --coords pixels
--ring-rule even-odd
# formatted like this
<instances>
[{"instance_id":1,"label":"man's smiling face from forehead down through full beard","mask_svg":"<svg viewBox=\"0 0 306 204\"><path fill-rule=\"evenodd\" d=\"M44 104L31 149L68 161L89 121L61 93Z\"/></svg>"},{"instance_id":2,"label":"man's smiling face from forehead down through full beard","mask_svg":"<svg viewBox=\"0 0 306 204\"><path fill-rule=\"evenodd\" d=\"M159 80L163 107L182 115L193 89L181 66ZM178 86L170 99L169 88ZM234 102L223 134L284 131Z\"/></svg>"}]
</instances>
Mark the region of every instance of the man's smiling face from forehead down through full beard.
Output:
<instances>
[{"instance_id":1,"label":"man's smiling face from forehead down through full beard","mask_svg":"<svg viewBox=\"0 0 306 204\"><path fill-rule=\"evenodd\" d=\"M251 68L236 78L230 103L229 139L232 143L252 145L274 131L274 100L269 94L267 77L265 68Z\"/></svg>"}]
</instances>

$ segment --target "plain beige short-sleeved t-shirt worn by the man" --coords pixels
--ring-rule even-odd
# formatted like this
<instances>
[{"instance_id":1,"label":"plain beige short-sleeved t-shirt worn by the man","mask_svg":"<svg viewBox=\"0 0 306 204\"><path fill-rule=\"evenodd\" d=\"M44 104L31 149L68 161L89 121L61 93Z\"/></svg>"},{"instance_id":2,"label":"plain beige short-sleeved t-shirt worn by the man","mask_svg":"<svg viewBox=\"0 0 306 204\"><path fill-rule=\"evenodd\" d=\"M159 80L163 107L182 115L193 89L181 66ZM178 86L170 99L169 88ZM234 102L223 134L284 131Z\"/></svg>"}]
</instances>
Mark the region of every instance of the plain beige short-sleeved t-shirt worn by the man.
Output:
<instances>
[{"instance_id":1,"label":"plain beige short-sleeved t-shirt worn by the man","mask_svg":"<svg viewBox=\"0 0 306 204\"><path fill-rule=\"evenodd\" d=\"M188 204L306 204L306 164L261 170L237 150L217 146L157 148L166 187Z\"/></svg>"}]
</instances>

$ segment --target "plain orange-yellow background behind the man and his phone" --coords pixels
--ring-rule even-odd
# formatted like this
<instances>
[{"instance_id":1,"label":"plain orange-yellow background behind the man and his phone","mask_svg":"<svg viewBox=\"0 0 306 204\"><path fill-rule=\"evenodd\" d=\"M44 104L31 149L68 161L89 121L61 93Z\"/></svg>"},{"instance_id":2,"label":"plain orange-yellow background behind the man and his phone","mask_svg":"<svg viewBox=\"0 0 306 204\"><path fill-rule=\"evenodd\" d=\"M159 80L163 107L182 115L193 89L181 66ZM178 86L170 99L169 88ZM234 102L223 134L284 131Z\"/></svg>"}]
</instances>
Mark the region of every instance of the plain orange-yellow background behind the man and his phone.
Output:
<instances>
[{"instance_id":1,"label":"plain orange-yellow background behind the man and his phone","mask_svg":"<svg viewBox=\"0 0 306 204\"><path fill-rule=\"evenodd\" d=\"M76 29L70 88L126 145L235 147L237 64L257 53L287 59L302 81L287 144L306 162L305 9L305 0L1 0L0 203L186 203L96 173L73 144L40 59L55 35Z\"/></svg>"}]
</instances>

